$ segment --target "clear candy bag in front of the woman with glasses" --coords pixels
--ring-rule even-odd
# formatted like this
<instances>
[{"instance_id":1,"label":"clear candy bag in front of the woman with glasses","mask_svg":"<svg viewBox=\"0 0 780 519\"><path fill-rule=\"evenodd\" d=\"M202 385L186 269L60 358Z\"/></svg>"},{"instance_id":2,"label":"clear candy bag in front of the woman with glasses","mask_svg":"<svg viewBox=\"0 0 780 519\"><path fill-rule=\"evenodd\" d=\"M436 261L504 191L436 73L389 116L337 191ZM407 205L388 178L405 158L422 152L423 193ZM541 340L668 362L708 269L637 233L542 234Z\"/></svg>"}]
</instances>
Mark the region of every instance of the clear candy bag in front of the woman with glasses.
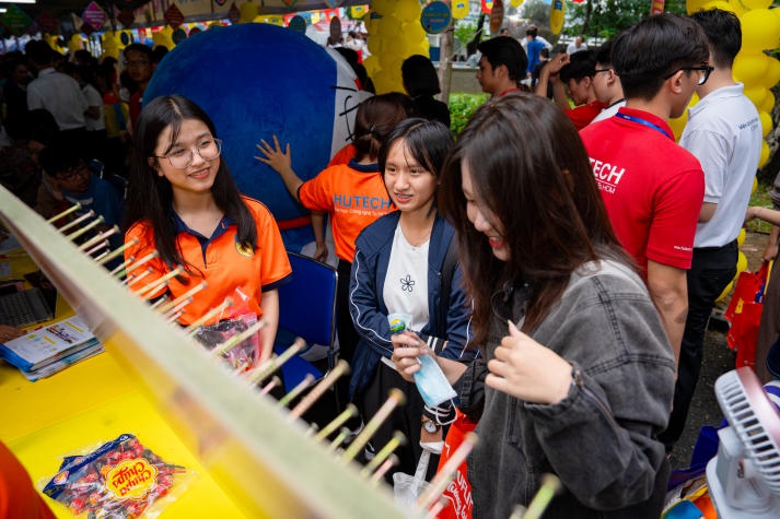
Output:
<instances>
[{"instance_id":1,"label":"clear candy bag in front of the woman with glasses","mask_svg":"<svg viewBox=\"0 0 780 519\"><path fill-rule=\"evenodd\" d=\"M209 350L213 350L236 333L241 333L257 322L257 314L249 310L248 297L236 288L233 292L233 307L219 322L200 327L195 339ZM248 371L260 358L260 339L257 332L229 350L223 358L238 371Z\"/></svg>"}]
</instances>

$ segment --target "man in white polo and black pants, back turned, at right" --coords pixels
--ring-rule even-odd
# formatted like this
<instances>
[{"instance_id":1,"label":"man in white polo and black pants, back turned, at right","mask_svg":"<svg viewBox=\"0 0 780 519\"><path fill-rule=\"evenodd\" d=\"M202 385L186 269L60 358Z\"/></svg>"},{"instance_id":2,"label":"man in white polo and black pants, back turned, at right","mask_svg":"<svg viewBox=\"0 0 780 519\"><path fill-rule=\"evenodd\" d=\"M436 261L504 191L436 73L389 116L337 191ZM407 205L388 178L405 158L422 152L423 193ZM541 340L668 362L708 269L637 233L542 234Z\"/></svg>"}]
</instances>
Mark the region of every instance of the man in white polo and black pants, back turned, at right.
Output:
<instances>
[{"instance_id":1,"label":"man in white polo and black pants, back turned, at right","mask_svg":"<svg viewBox=\"0 0 780 519\"><path fill-rule=\"evenodd\" d=\"M667 451L685 428L701 367L705 332L718 296L736 273L736 237L745 217L761 150L761 123L753 103L734 81L732 63L742 46L740 20L713 9L691 16L707 34L709 80L697 87L699 103L688 110L679 144L705 172L705 199L687 273L688 316L679 353L674 408L659 436Z\"/></svg>"}]
</instances>

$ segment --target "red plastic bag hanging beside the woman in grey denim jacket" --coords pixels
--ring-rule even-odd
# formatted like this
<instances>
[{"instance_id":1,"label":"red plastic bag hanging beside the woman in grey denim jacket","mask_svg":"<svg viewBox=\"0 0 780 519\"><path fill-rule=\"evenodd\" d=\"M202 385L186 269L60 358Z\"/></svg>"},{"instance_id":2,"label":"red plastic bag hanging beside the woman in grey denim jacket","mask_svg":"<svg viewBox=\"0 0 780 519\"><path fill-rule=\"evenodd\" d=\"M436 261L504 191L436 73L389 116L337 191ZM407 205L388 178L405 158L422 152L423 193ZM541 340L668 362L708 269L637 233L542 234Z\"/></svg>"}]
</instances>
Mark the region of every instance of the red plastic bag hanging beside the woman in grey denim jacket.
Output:
<instances>
[{"instance_id":1,"label":"red plastic bag hanging beside the woman in grey denim jacket","mask_svg":"<svg viewBox=\"0 0 780 519\"><path fill-rule=\"evenodd\" d=\"M444 467L450 456L457 450L463 443L464 437L474 430L477 422L473 421L461 411L457 411L455 421L450 425L446 438L444 438L444 448L439 458L439 470ZM436 517L444 519L470 519L474 502L472 500L472 485L468 482L467 465L464 461L458 467L453 481L447 485L442 494L442 497L447 500L447 505L439 512Z\"/></svg>"}]
</instances>

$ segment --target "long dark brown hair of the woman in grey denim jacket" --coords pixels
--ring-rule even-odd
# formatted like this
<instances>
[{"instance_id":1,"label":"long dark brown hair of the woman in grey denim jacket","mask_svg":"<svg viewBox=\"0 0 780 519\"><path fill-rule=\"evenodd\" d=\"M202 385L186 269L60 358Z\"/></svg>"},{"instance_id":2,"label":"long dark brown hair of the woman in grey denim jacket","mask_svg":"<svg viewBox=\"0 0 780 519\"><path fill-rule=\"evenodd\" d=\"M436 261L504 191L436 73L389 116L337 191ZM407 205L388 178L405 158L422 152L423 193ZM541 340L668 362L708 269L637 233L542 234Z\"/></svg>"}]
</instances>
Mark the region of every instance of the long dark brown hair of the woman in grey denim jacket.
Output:
<instances>
[{"instance_id":1,"label":"long dark brown hair of the woman in grey denim jacket","mask_svg":"<svg viewBox=\"0 0 780 519\"><path fill-rule=\"evenodd\" d=\"M508 261L492 255L468 220L464 164L473 196L503 227ZM581 264L605 257L631 264L609 224L577 129L543 97L511 94L477 109L444 166L440 205L457 231L476 344L487 339L491 297L504 284L531 281L527 331L545 318Z\"/></svg>"}]
</instances>

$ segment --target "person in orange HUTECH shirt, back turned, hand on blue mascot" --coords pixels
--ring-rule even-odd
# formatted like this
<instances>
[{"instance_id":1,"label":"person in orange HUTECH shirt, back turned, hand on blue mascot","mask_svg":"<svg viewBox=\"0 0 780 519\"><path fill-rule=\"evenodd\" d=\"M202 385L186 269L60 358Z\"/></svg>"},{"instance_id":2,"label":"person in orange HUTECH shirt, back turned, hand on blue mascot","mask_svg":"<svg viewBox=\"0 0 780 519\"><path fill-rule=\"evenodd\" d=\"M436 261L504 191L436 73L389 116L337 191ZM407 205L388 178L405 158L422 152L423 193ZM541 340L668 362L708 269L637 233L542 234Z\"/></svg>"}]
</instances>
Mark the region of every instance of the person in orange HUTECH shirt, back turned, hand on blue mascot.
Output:
<instances>
[{"instance_id":1,"label":"person in orange HUTECH shirt, back turned, hand on blue mascot","mask_svg":"<svg viewBox=\"0 0 780 519\"><path fill-rule=\"evenodd\" d=\"M377 156L382 141L401 120L415 115L409 96L389 93L370 97L360 104L354 118L356 156L348 164L337 164L303 181L292 169L290 144L282 146L273 135L273 145L260 140L258 161L271 166L284 181L290 194L312 211L327 211L333 225L338 257L337 329L339 356L352 361L358 334L349 314L349 278L358 234L380 216L395 210L380 175ZM314 225L317 241L315 257L325 248L325 229ZM327 250L325 250L327 255Z\"/></svg>"}]
</instances>

